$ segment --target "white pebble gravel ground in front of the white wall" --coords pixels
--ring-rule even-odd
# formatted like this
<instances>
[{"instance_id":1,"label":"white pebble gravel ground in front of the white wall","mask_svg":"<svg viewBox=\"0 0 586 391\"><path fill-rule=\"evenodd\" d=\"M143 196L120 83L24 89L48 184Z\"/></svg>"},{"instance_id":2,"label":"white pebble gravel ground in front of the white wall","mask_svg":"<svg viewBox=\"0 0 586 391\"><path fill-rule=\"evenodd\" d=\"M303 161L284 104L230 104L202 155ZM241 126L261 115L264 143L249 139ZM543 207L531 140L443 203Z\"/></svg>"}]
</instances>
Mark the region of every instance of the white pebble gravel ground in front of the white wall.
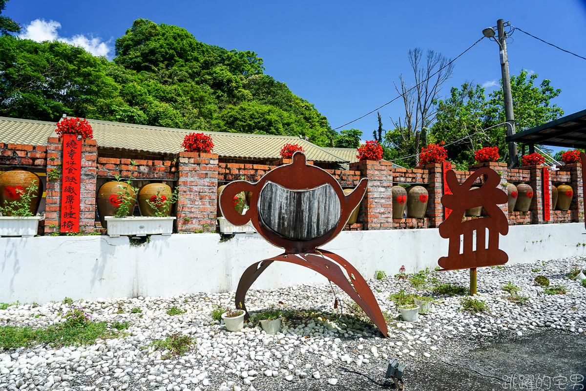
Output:
<instances>
[{"instance_id":1,"label":"white pebble gravel ground in front of the white wall","mask_svg":"<svg viewBox=\"0 0 586 391\"><path fill-rule=\"evenodd\" d=\"M407 367L407 390L408 372L426 363L444 362L494 342L519 341L544 328L584 334L586 288L565 277L574 267L586 268L586 261L572 258L479 268L475 298L488 305L488 313L462 310L462 296L434 295L437 300L427 315L420 315L414 323L391 322L387 339L349 316L343 304L349 302L347 295L331 284L250 290L250 312L268 307L312 308L312 317L285 323L275 335L267 335L253 324L240 332L228 332L223 324L213 321L213 305L233 305L233 292L81 300L74 305L86 307L94 321L130 321L131 327L121 338L98 339L91 345L0 351L0 390L333 390L355 389L350 385L356 384L365 390L370 384L366 379L338 368L383 381L393 357ZM431 274L442 283L466 286L469 282L468 270ZM538 274L549 278L551 285L563 285L567 293L544 294L543 287L533 284ZM524 304L506 299L508 294L502 287L509 281L528 298ZM398 292L398 279L368 282L381 309L394 315L388 297ZM406 281L401 284L410 293L430 294L415 290ZM334 308L336 298L342 304L338 308ZM137 307L142 313L131 314ZM186 312L166 314L171 307ZM56 324L65 321L69 308L63 302L12 305L0 310L0 325ZM151 345L176 332L192 336L195 347L182 356L167 356L168 351Z\"/></svg>"}]
</instances>

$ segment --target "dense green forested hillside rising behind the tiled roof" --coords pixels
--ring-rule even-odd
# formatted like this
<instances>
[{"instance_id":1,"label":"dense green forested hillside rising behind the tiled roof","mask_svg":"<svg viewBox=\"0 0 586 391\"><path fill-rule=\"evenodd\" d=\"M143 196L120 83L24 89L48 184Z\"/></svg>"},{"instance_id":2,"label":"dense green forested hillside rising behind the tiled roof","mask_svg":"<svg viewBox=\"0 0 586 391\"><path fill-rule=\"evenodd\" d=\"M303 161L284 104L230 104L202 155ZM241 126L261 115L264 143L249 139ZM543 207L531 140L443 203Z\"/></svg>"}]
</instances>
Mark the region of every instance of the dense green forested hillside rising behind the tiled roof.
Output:
<instances>
[{"instance_id":1,"label":"dense green forested hillside rising behind the tiled roof","mask_svg":"<svg viewBox=\"0 0 586 391\"><path fill-rule=\"evenodd\" d=\"M197 41L178 26L137 19L108 61L67 43L0 36L0 115L76 117L192 130L337 134L313 104L264 74L255 52Z\"/></svg>"}]
</instances>

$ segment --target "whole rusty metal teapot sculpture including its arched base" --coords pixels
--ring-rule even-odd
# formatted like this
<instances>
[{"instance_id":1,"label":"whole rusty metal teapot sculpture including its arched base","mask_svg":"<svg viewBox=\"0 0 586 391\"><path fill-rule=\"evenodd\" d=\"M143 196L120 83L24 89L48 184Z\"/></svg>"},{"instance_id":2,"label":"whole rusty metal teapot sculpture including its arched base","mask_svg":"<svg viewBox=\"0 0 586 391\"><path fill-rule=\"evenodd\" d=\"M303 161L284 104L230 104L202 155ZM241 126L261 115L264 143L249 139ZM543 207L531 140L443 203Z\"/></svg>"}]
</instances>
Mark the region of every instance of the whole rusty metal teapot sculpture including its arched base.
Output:
<instances>
[{"instance_id":1,"label":"whole rusty metal teapot sculpture including its arched base","mask_svg":"<svg viewBox=\"0 0 586 391\"><path fill-rule=\"evenodd\" d=\"M264 239L285 250L244 271L236 290L235 304L238 308L242 305L248 319L246 293L258 276L273 261L295 263L317 271L338 285L387 336L383 314L364 278L342 257L318 249L342 231L366 193L368 179L363 178L352 193L345 195L332 175L307 164L303 152L295 152L292 159L291 164L267 172L256 183L234 181L220 193L220 210L230 223L244 225L250 221ZM250 209L243 215L233 206L234 196L240 192L252 193Z\"/></svg>"}]
</instances>

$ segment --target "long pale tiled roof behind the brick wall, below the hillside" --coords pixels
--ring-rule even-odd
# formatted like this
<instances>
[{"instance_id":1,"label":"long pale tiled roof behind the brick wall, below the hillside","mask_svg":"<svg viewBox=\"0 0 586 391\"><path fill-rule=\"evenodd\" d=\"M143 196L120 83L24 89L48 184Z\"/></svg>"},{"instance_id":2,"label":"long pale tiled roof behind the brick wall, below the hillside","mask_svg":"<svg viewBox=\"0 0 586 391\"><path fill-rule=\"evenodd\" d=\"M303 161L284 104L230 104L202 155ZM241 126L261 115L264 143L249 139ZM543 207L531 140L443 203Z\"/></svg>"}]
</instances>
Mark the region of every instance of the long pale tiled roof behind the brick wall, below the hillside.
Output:
<instances>
[{"instance_id":1,"label":"long pale tiled roof behind the brick wall, below the hillside","mask_svg":"<svg viewBox=\"0 0 586 391\"><path fill-rule=\"evenodd\" d=\"M134 125L87 119L98 146L134 151L177 153L182 151L183 137L192 130ZM0 117L0 142L46 145L47 137L56 137L54 123ZM299 137L202 132L212 136L213 152L220 157L278 159L284 144L301 146L308 160L340 162L348 160L329 148L321 148Z\"/></svg>"}]
</instances>

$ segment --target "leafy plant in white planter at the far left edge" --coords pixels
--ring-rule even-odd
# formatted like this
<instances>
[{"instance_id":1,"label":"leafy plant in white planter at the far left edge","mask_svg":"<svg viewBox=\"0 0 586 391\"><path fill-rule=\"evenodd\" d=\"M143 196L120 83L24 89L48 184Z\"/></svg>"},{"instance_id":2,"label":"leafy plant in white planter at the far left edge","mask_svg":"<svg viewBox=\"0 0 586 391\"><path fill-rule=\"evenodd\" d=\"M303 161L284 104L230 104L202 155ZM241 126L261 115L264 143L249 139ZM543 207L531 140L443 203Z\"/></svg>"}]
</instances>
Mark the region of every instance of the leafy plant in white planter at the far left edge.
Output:
<instances>
[{"instance_id":1,"label":"leafy plant in white planter at the far left edge","mask_svg":"<svg viewBox=\"0 0 586 391\"><path fill-rule=\"evenodd\" d=\"M38 179L33 179L28 186L4 186L6 197L0 204L0 236L36 235L40 217L33 212L38 207L39 183Z\"/></svg>"}]
</instances>

